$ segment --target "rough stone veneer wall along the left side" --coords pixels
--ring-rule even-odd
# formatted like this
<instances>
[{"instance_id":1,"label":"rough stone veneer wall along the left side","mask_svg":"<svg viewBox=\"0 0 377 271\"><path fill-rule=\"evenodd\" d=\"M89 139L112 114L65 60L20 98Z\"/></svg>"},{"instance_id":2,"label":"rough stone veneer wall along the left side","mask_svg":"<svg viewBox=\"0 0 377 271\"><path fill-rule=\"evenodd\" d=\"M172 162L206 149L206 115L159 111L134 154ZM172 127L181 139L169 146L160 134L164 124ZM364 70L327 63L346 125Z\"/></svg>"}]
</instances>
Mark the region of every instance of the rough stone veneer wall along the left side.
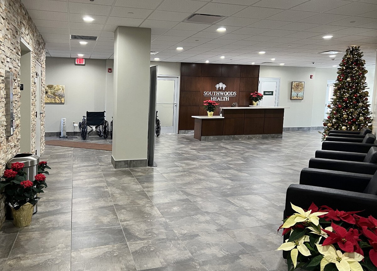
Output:
<instances>
[{"instance_id":1,"label":"rough stone veneer wall along the left side","mask_svg":"<svg viewBox=\"0 0 377 271\"><path fill-rule=\"evenodd\" d=\"M37 27L31 20L21 0L0 0L0 170L3 172L5 163L20 151L20 59L21 37L32 48L32 112L36 109L36 74L35 62L42 67L41 72L41 111L44 112L45 85L45 42ZM13 136L5 136L5 71L13 72L14 89L13 105L15 116L15 132ZM30 112L30 113L32 113ZM35 150L35 125L32 118L31 139L32 150ZM41 116L41 154L44 151L44 114ZM4 198L0 196L0 228L5 220Z\"/></svg>"}]
</instances>

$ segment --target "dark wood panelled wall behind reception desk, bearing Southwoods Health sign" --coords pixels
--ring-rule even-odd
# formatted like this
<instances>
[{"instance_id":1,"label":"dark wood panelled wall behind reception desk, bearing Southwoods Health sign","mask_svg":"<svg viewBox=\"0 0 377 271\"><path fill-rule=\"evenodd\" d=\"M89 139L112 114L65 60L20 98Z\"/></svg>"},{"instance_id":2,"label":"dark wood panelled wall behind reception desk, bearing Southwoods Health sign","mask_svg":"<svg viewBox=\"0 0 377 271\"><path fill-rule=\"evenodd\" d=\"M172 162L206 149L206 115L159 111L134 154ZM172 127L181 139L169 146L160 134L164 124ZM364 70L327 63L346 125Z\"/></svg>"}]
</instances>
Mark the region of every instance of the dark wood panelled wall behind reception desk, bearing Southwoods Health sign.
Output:
<instances>
[{"instance_id":1,"label":"dark wood panelled wall behind reception desk, bearing Southwoods Health sign","mask_svg":"<svg viewBox=\"0 0 377 271\"><path fill-rule=\"evenodd\" d=\"M211 97L204 97L204 91L216 91L215 85L222 82L226 85L224 91L235 91L237 95L230 97L229 101L216 101L220 106L231 106L234 102L239 106L249 106L250 92L258 91L258 81L258 65L181 63L178 129L192 130L194 119L191 116L207 115L202 104L204 100L209 100ZM219 110L216 110L214 114L219 115ZM244 123L241 125L242 132L243 125Z\"/></svg>"}]
</instances>

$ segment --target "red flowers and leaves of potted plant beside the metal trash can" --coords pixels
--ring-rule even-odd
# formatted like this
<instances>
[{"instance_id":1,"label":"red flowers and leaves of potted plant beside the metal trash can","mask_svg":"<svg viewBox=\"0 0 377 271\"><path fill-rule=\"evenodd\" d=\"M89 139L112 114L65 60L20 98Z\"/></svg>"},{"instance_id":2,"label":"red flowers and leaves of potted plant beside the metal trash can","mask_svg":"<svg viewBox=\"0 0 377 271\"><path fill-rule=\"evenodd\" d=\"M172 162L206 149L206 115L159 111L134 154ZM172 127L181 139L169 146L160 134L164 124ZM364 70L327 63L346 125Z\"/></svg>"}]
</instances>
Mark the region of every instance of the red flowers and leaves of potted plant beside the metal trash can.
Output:
<instances>
[{"instance_id":1,"label":"red flowers and leaves of potted plant beside the metal trash can","mask_svg":"<svg viewBox=\"0 0 377 271\"><path fill-rule=\"evenodd\" d=\"M0 180L0 191L5 194L8 205L15 210L27 202L32 205L37 204L40 199L37 194L43 193L43 188L47 187L44 174L48 174L45 169L50 167L47 162L41 163L38 165L38 174L34 176L34 180L26 179L24 163L15 162L10 169L5 169Z\"/></svg>"}]
</instances>

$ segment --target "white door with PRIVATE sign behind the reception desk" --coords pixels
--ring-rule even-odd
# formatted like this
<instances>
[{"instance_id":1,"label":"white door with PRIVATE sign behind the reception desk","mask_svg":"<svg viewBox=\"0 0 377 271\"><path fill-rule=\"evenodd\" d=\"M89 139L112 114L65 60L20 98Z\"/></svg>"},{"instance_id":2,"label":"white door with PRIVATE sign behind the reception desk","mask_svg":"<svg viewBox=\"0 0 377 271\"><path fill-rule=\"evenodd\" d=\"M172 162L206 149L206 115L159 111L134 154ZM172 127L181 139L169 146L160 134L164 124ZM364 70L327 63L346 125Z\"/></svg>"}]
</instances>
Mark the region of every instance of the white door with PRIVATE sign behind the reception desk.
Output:
<instances>
[{"instance_id":1,"label":"white door with PRIVATE sign behind the reception desk","mask_svg":"<svg viewBox=\"0 0 377 271\"><path fill-rule=\"evenodd\" d=\"M279 89L279 78L259 78L258 92L263 94L263 99L258 103L258 105L278 106Z\"/></svg>"}]
</instances>

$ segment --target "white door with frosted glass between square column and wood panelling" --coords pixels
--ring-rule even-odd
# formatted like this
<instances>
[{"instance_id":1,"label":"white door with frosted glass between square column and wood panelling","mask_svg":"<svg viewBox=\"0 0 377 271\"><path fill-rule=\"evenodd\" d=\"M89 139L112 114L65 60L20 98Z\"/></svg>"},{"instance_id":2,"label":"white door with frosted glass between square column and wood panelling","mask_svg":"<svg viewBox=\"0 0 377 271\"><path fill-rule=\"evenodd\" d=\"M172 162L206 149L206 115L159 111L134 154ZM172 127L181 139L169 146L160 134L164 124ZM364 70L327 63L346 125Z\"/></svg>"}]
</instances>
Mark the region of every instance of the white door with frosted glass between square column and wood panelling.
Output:
<instances>
[{"instance_id":1,"label":"white door with frosted glass between square column and wood panelling","mask_svg":"<svg viewBox=\"0 0 377 271\"><path fill-rule=\"evenodd\" d=\"M156 111L162 134L178 133L178 77L157 77Z\"/></svg>"}]
</instances>

